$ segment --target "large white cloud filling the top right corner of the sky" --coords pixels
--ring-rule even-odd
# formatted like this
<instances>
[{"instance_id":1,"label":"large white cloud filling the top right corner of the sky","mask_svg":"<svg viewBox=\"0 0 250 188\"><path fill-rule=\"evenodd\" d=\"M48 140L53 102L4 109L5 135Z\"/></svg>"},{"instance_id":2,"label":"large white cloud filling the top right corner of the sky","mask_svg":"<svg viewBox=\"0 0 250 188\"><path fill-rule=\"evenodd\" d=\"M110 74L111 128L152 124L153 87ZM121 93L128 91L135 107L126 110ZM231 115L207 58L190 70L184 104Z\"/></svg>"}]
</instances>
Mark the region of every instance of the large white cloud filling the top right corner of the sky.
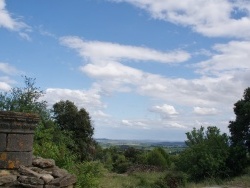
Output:
<instances>
[{"instance_id":1,"label":"large white cloud filling the top right corner of the sky","mask_svg":"<svg viewBox=\"0 0 250 188\"><path fill-rule=\"evenodd\" d=\"M245 0L109 0L127 2L155 19L183 26L206 36L250 38L250 5Z\"/></svg>"}]
</instances>

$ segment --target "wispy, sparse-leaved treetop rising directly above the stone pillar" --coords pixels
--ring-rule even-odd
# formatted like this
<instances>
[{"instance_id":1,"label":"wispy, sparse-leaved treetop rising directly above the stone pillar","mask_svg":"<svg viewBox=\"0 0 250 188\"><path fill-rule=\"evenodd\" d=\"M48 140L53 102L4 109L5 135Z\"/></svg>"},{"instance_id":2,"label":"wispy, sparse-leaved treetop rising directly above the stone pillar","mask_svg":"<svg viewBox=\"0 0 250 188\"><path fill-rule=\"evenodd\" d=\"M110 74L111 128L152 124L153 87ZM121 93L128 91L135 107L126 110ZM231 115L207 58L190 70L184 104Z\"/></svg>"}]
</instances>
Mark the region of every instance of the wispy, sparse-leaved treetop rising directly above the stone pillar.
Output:
<instances>
[{"instance_id":1,"label":"wispy, sparse-leaved treetop rising directly above the stone pillar","mask_svg":"<svg viewBox=\"0 0 250 188\"><path fill-rule=\"evenodd\" d=\"M43 91L35 86L35 79L24 77L24 87L11 88L0 93L0 110L37 113L47 116L46 101L41 101Z\"/></svg>"}]
</instances>

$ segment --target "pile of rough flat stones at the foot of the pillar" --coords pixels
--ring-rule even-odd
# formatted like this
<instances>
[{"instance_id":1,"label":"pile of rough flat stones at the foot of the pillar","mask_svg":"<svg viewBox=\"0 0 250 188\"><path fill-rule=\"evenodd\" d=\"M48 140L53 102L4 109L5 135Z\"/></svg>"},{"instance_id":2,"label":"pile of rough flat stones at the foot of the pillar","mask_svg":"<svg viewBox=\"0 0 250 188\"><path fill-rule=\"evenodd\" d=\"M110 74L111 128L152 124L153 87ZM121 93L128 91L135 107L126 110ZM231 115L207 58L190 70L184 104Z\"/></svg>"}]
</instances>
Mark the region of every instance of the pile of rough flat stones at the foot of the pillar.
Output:
<instances>
[{"instance_id":1,"label":"pile of rough flat stones at the foot of the pillar","mask_svg":"<svg viewBox=\"0 0 250 188\"><path fill-rule=\"evenodd\" d=\"M76 177L55 165L53 159L34 158L32 166L0 170L0 187L73 188Z\"/></svg>"}]
</instances>

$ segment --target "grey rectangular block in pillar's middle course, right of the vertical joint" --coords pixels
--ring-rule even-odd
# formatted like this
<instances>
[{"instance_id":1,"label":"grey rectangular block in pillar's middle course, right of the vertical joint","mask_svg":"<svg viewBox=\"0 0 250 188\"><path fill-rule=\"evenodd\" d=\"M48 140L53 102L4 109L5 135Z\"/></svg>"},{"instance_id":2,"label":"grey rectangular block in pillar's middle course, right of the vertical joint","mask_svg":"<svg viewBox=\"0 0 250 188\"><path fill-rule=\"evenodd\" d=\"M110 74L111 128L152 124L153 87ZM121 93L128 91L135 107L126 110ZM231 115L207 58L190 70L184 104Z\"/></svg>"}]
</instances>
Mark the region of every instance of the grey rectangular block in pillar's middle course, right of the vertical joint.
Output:
<instances>
[{"instance_id":1,"label":"grey rectangular block in pillar's middle course, right of the vertical joint","mask_svg":"<svg viewBox=\"0 0 250 188\"><path fill-rule=\"evenodd\" d=\"M7 151L32 151L33 134L8 134Z\"/></svg>"}]
</instances>

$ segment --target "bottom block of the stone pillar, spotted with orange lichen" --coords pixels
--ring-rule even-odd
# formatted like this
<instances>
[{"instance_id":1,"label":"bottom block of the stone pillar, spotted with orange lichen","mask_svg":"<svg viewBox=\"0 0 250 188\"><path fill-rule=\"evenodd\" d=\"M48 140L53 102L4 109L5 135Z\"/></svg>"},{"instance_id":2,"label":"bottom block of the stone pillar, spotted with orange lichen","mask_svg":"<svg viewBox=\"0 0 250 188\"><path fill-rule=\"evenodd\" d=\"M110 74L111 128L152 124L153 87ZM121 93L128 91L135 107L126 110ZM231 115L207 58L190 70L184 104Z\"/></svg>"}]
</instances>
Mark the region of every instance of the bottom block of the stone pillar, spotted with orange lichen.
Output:
<instances>
[{"instance_id":1,"label":"bottom block of the stone pillar, spotted with orange lichen","mask_svg":"<svg viewBox=\"0 0 250 188\"><path fill-rule=\"evenodd\" d=\"M17 169L31 164L32 152L0 152L0 168Z\"/></svg>"}]
</instances>

